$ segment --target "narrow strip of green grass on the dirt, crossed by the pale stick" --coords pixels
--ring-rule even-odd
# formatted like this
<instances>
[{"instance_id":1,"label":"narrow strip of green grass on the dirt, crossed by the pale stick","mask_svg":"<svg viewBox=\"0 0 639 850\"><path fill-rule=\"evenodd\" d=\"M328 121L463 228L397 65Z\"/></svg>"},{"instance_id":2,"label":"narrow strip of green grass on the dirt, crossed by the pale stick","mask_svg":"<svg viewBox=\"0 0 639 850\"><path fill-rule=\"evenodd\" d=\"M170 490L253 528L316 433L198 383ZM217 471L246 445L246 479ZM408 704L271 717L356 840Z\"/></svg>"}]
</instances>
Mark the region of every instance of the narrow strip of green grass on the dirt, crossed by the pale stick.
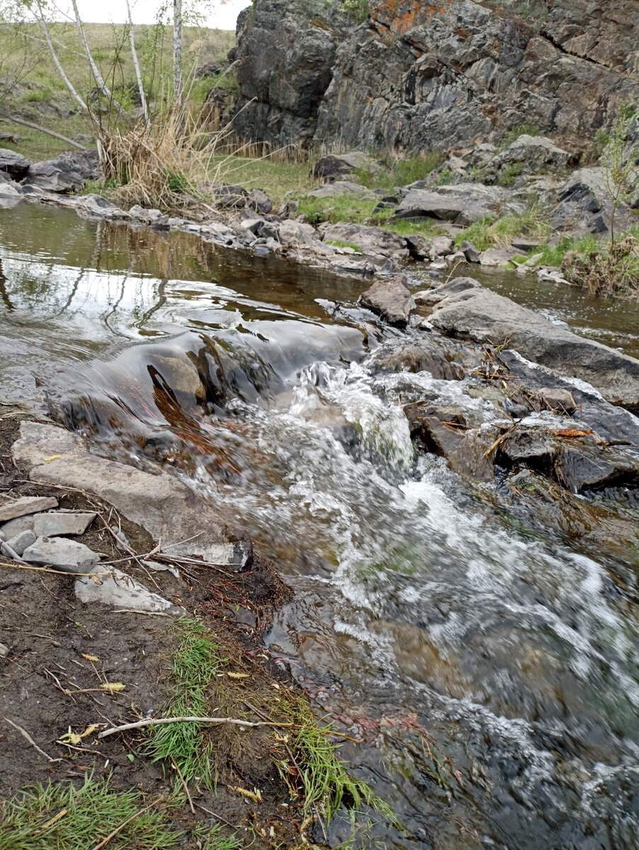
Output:
<instances>
[{"instance_id":1,"label":"narrow strip of green grass on the dirt, crossed by the pale stick","mask_svg":"<svg viewBox=\"0 0 639 850\"><path fill-rule=\"evenodd\" d=\"M206 717L206 689L222 659L204 623L183 617L174 626L180 643L172 654L172 695L163 706L164 717ZM214 745L210 730L200 723L167 723L149 729L147 751L154 762L178 765L185 782L197 780L212 787Z\"/></svg>"}]
</instances>

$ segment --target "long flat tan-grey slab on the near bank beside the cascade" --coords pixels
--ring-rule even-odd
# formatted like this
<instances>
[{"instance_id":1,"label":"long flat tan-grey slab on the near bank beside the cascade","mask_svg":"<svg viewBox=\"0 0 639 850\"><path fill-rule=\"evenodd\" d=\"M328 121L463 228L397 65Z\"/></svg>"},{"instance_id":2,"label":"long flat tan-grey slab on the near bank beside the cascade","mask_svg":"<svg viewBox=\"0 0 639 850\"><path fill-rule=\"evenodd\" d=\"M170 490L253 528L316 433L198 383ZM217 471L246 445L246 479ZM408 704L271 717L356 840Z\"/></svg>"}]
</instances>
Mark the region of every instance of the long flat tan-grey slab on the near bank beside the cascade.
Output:
<instances>
[{"instance_id":1,"label":"long flat tan-grey slab on the near bank beside the cascade","mask_svg":"<svg viewBox=\"0 0 639 850\"><path fill-rule=\"evenodd\" d=\"M82 439L64 428L22 422L13 454L31 464L32 481L78 487L110 501L168 553L201 556L238 570L252 556L246 532L228 523L178 479L92 455Z\"/></svg>"}]
</instances>

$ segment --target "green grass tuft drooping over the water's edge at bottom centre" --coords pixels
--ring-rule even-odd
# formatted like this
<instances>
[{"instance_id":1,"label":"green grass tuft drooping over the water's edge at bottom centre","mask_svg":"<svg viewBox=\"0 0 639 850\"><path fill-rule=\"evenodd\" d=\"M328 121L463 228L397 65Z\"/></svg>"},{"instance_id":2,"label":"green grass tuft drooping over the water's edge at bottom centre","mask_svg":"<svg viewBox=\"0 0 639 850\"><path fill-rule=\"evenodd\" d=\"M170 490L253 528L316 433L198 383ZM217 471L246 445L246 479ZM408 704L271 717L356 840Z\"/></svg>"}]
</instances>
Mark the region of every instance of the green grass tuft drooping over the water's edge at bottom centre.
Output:
<instances>
[{"instance_id":1,"label":"green grass tuft drooping over the water's edge at bottom centre","mask_svg":"<svg viewBox=\"0 0 639 850\"><path fill-rule=\"evenodd\" d=\"M319 817L331 823L342 807L369 806L398 829L403 829L393 810L362 779L348 773L346 762L337 755L339 745L329 739L331 725L319 726L303 700L279 706L281 713L299 724L293 749L297 765L276 762L280 775L291 788L291 796L303 795L304 818ZM301 783L302 788L299 788Z\"/></svg>"}]
</instances>

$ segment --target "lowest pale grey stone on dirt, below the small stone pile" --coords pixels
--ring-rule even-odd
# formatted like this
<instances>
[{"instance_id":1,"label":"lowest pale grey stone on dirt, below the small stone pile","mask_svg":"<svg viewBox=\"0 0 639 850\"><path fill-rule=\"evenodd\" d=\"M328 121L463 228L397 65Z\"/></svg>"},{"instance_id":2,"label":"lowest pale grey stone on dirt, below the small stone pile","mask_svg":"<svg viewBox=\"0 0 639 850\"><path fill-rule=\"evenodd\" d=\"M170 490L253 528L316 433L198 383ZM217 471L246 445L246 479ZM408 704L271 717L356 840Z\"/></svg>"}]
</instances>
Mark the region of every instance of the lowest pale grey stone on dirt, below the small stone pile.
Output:
<instances>
[{"instance_id":1,"label":"lowest pale grey stone on dirt, below the small stone pile","mask_svg":"<svg viewBox=\"0 0 639 850\"><path fill-rule=\"evenodd\" d=\"M76 598L84 604L109 605L133 611L150 611L184 616L184 609L173 605L158 593L150 592L131 575L114 567L95 570L96 575L82 575L76 579ZM101 574L101 575L98 575Z\"/></svg>"}]
</instances>

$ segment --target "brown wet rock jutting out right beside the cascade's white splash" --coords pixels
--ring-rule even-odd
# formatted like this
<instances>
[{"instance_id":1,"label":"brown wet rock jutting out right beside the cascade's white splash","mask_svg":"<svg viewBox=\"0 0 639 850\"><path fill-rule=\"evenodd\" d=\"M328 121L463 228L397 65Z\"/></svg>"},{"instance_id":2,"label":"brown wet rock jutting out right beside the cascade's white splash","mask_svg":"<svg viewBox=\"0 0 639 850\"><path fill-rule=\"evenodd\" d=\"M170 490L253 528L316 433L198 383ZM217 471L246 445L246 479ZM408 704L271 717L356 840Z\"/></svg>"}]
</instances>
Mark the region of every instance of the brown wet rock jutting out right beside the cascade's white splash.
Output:
<instances>
[{"instance_id":1,"label":"brown wet rock jutting out right beside the cascade's white splash","mask_svg":"<svg viewBox=\"0 0 639 850\"><path fill-rule=\"evenodd\" d=\"M495 479L495 466L490 457L486 456L489 450L486 440L475 431L444 425L439 419L439 416L454 415L454 412L432 405L419 411L417 405L406 405L404 413L410 416L411 433L421 439L427 450L444 456L453 472L474 481ZM446 421L455 422L455 419Z\"/></svg>"}]
</instances>

